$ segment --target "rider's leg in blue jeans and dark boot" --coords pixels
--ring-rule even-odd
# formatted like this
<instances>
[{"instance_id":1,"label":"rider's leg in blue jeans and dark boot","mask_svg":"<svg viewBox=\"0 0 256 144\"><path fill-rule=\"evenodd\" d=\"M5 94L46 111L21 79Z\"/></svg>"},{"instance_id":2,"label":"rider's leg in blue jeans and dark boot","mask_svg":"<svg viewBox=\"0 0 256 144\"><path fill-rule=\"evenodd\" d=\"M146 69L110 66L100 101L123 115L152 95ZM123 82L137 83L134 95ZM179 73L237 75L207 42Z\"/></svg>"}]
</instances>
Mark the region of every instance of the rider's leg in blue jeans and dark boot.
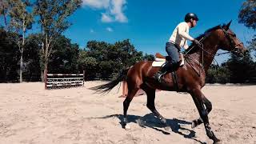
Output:
<instances>
[{"instance_id":1,"label":"rider's leg in blue jeans and dark boot","mask_svg":"<svg viewBox=\"0 0 256 144\"><path fill-rule=\"evenodd\" d=\"M179 62L179 57L178 57L178 47L175 46L171 42L166 43L166 52L171 58L170 61L164 63L162 67L158 70L156 74L154 74L154 79L158 80L158 82L161 82L161 77L162 75L166 74L167 72L172 72L178 69L178 62Z\"/></svg>"}]
</instances>

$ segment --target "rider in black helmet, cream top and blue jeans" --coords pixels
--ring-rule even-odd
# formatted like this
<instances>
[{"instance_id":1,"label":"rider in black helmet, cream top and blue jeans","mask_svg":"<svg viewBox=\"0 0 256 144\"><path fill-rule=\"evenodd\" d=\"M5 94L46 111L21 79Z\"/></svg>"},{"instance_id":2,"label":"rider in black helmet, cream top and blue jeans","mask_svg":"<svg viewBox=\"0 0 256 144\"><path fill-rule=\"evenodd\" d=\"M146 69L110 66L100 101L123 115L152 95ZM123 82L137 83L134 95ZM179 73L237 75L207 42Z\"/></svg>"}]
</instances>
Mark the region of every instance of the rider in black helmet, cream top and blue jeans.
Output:
<instances>
[{"instance_id":1,"label":"rider in black helmet, cream top and blue jeans","mask_svg":"<svg viewBox=\"0 0 256 144\"><path fill-rule=\"evenodd\" d=\"M191 42L194 42L196 45L200 45L197 39L192 38L189 34L190 28L197 25L198 16L194 13L188 13L185 16L185 22L181 22L174 29L173 34L171 34L170 39L166 42L166 52L171 58L170 61L167 61L162 65L156 74L154 74L154 79L161 82L162 75L167 72L172 72L178 70L179 66L179 56L178 52L181 50L181 47L187 49L187 39Z\"/></svg>"}]
</instances>

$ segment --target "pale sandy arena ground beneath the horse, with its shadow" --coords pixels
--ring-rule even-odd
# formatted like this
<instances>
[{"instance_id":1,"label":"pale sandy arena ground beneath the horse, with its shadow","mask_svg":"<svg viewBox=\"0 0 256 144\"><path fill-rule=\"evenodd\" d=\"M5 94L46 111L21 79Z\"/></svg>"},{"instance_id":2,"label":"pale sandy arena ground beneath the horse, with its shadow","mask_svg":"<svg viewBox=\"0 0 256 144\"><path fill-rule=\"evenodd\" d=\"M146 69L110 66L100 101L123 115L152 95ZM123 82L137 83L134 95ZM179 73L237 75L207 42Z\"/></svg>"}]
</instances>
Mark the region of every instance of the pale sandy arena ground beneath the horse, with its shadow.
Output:
<instances>
[{"instance_id":1,"label":"pale sandy arena ground beneath the horse, with its shadow","mask_svg":"<svg viewBox=\"0 0 256 144\"><path fill-rule=\"evenodd\" d=\"M167 119L165 130L146 108L146 96L135 97L128 110L130 130L121 126L118 86L109 94L88 88L44 90L42 82L0 83L0 143L212 143L202 125L191 129L198 111L189 94L159 91L155 104ZM213 104L210 126L222 143L256 144L256 86L205 86Z\"/></svg>"}]
</instances>

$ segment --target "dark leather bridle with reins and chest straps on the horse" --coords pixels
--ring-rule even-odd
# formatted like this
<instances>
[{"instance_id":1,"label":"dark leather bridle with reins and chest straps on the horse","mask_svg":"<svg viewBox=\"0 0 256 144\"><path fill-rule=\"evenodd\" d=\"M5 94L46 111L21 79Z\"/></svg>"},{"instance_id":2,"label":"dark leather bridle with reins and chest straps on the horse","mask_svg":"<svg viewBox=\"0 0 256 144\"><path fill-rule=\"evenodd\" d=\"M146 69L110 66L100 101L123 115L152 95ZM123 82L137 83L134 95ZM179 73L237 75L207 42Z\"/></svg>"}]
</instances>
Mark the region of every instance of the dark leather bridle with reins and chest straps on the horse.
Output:
<instances>
[{"instance_id":1,"label":"dark leather bridle with reins and chest straps on the horse","mask_svg":"<svg viewBox=\"0 0 256 144\"><path fill-rule=\"evenodd\" d=\"M219 56L219 55L222 55L222 54L228 54L228 53L234 53L234 54L242 54L241 50L238 48L238 46L241 46L242 42L238 43L238 44L235 44L234 40L230 37L230 35L233 35L234 37L236 36L235 34L230 34L227 32L227 30L223 29L222 27L220 28L225 37L228 39L228 41L230 42L230 51L228 52L224 52L224 53L219 53L219 54L211 54L209 51L205 50L204 47L203 47L203 44L202 42L210 35L210 34L206 34L205 36L203 36L199 42L200 42L200 45L198 45L198 47L202 50L202 63L198 62L196 59L192 58L188 53L190 52L190 50L194 49L194 46L192 46L190 48L190 50L186 51L186 53L184 54L184 58L187 60L187 58L189 60L193 60L194 62L198 63L198 65L200 67L202 67L202 70L204 70L204 53L210 55L211 57L214 58L214 56ZM232 50L233 49L233 50ZM214 58L215 60L215 58ZM216 60L215 60L216 61ZM188 61L187 61L188 62ZM217 62L217 61L216 61ZM190 62L188 62L188 64L191 66ZM194 69L194 66L191 66L193 69ZM195 69L194 69L195 70ZM195 70L196 71L196 70ZM196 71L197 72L197 71ZM201 75L201 69L199 70L199 76Z\"/></svg>"}]
</instances>

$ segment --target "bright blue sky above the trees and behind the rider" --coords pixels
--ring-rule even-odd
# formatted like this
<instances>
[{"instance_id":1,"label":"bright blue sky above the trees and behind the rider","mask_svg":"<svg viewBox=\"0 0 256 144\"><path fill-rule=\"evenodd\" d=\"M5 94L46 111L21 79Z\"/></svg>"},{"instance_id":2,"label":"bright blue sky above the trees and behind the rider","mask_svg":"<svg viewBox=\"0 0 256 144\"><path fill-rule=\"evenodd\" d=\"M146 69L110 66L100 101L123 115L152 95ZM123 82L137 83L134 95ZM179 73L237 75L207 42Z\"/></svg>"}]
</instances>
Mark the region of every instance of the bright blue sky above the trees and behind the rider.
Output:
<instances>
[{"instance_id":1,"label":"bright blue sky above the trees and behind the rider","mask_svg":"<svg viewBox=\"0 0 256 144\"><path fill-rule=\"evenodd\" d=\"M165 43L175 26L188 12L198 14L198 26L190 29L197 37L210 27L233 20L230 28L246 43L253 30L238 23L244 0L83 0L70 18L73 23L65 35L81 48L90 40L114 43L129 38L137 50L147 54L166 54ZM218 57L223 62L228 55Z\"/></svg>"}]
</instances>

